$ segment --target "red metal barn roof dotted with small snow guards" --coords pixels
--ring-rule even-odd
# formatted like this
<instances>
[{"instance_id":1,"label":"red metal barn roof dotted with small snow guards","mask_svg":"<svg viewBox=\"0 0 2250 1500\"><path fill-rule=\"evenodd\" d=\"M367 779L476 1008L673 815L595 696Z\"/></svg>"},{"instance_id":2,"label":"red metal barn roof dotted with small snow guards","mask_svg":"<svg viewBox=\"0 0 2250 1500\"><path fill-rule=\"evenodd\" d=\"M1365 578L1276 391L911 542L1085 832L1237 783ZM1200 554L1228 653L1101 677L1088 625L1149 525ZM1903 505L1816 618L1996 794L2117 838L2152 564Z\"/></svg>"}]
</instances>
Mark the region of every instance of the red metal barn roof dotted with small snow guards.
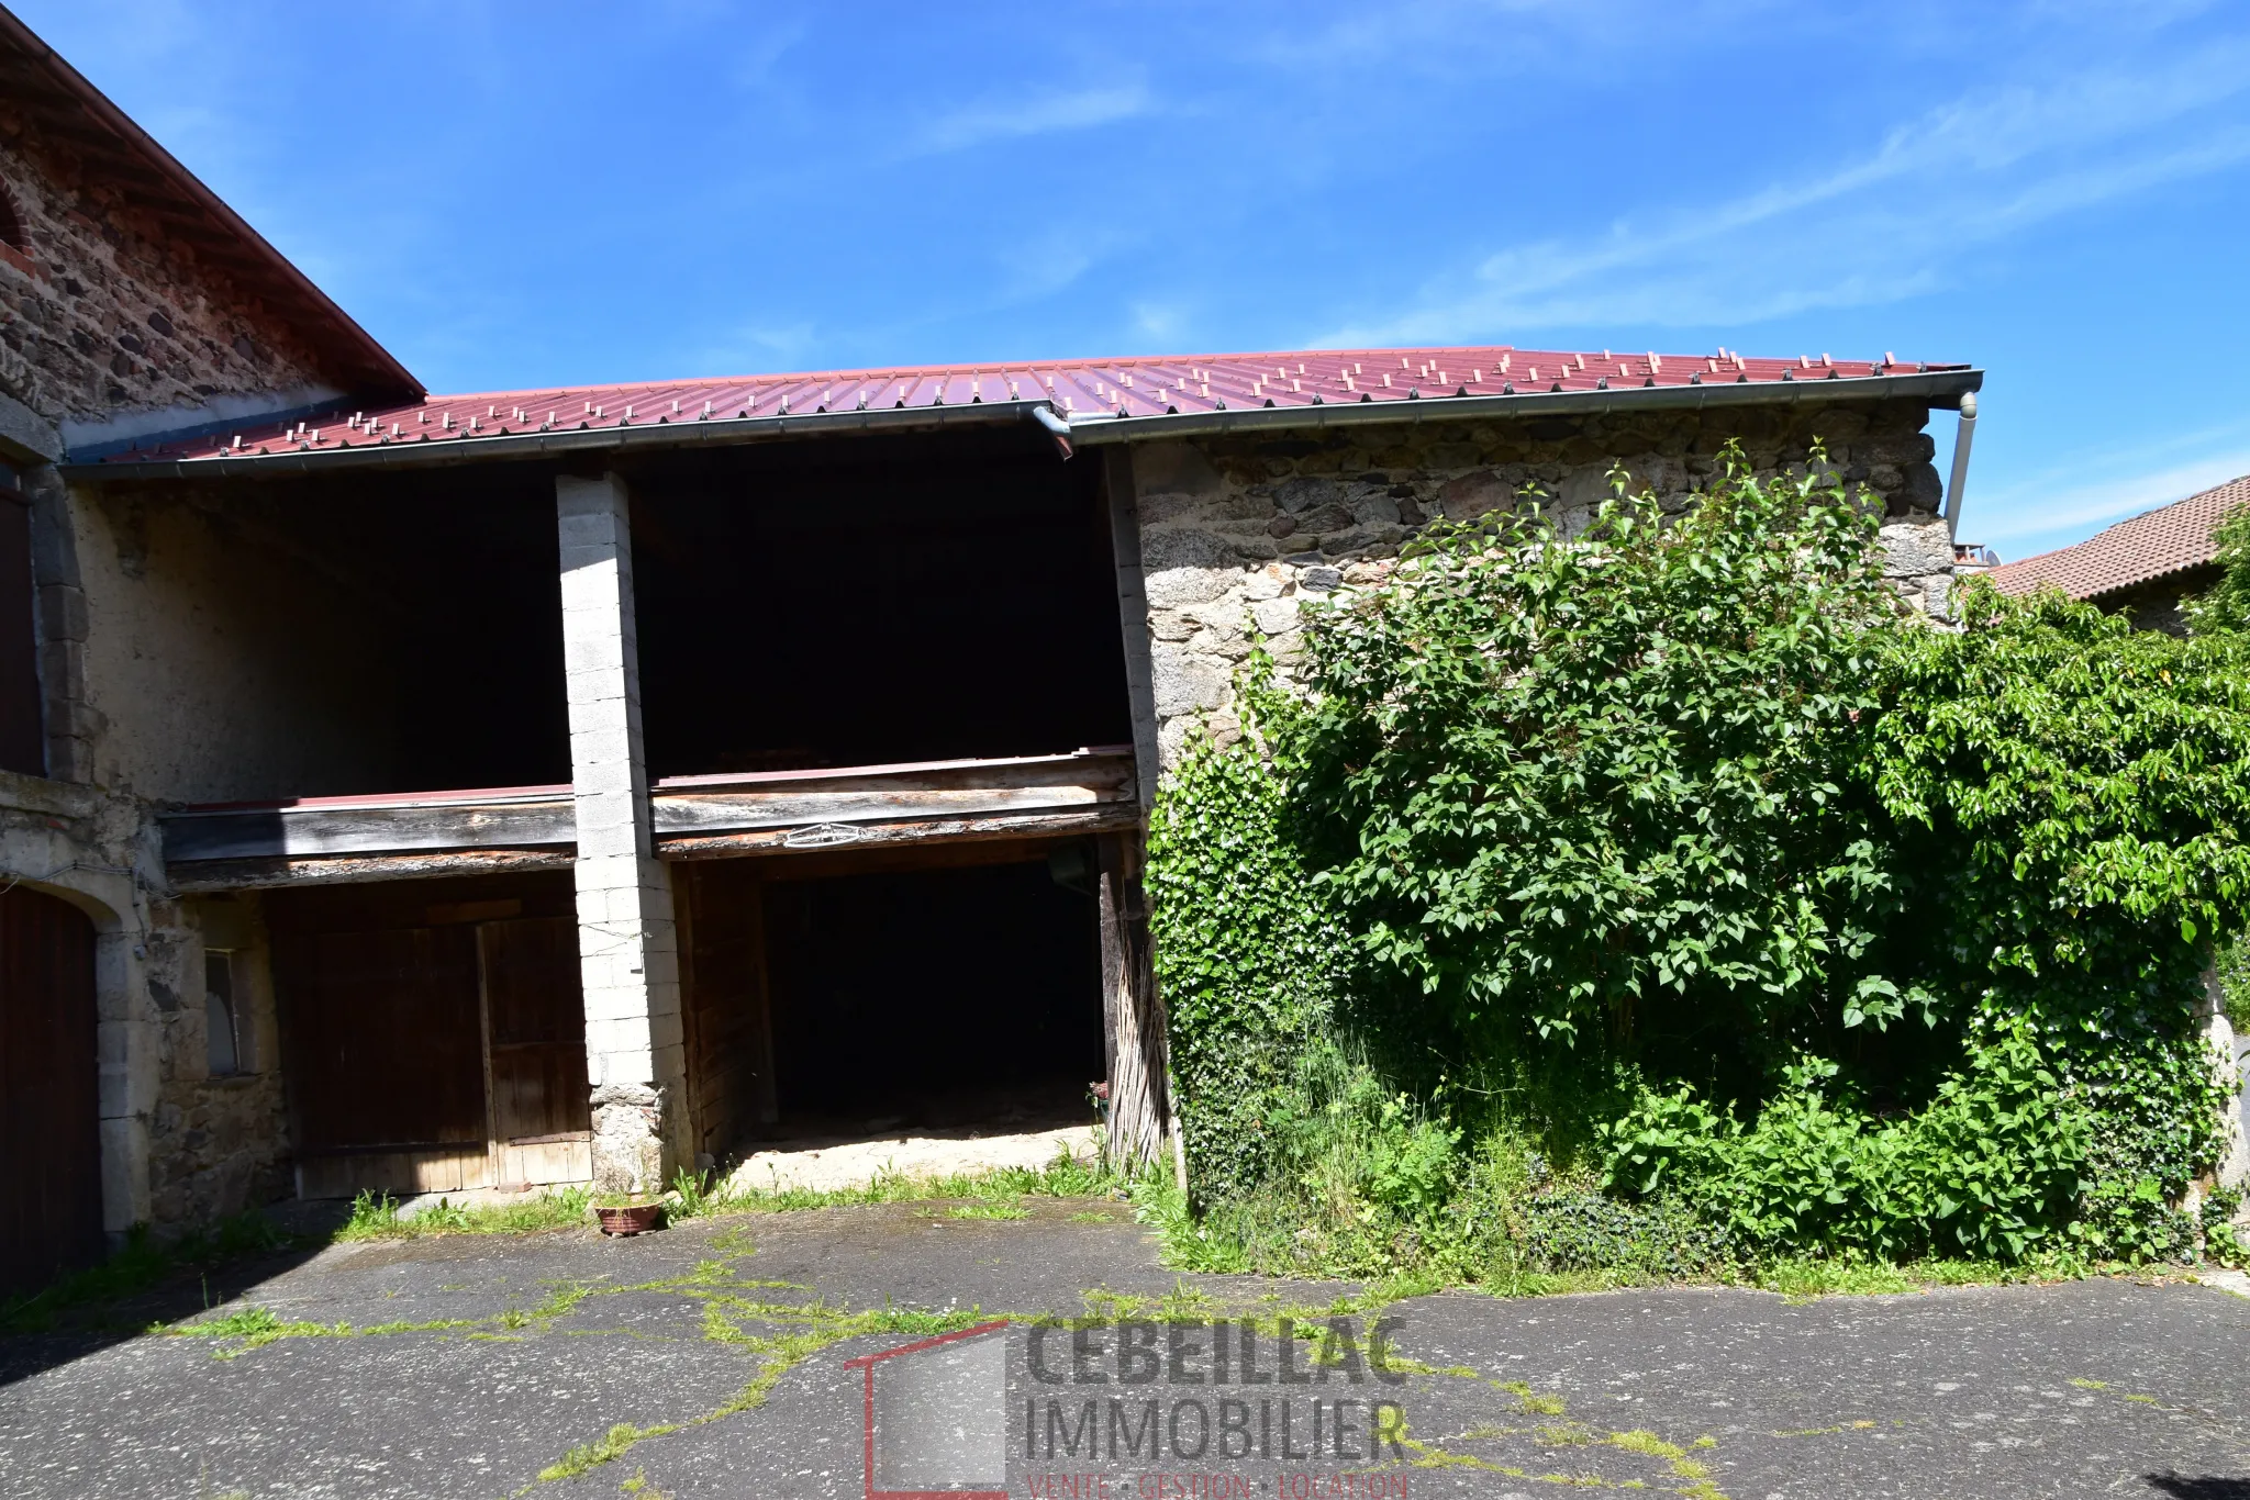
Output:
<instances>
[{"instance_id":1,"label":"red metal barn roof dotted with small snow guards","mask_svg":"<svg viewBox=\"0 0 2250 1500\"><path fill-rule=\"evenodd\" d=\"M1066 421L1091 421L1532 391L1865 380L1964 369L1969 367L1904 364L1890 355L1881 360L1832 360L1829 355L1750 360L1732 351L1678 355L1514 349L1508 344L920 364L428 396L396 407L338 412L333 418L308 423L243 425L238 432L216 436L155 441L133 452L108 454L108 461L243 459L398 443L475 443L477 439L533 432L974 403L1044 400Z\"/></svg>"}]
</instances>

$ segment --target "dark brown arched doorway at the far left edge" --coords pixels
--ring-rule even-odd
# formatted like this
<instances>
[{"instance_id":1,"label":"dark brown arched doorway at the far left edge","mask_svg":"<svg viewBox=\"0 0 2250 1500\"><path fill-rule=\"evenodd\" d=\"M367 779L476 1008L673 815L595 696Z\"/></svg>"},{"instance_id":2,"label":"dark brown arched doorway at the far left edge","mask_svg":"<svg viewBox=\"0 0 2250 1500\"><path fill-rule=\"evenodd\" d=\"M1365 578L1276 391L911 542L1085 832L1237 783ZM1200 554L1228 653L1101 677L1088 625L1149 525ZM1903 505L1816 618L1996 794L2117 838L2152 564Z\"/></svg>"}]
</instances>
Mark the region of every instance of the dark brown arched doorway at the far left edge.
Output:
<instances>
[{"instance_id":1,"label":"dark brown arched doorway at the far left edge","mask_svg":"<svg viewBox=\"0 0 2250 1500\"><path fill-rule=\"evenodd\" d=\"M94 924L0 891L0 1293L101 1257Z\"/></svg>"}]
</instances>

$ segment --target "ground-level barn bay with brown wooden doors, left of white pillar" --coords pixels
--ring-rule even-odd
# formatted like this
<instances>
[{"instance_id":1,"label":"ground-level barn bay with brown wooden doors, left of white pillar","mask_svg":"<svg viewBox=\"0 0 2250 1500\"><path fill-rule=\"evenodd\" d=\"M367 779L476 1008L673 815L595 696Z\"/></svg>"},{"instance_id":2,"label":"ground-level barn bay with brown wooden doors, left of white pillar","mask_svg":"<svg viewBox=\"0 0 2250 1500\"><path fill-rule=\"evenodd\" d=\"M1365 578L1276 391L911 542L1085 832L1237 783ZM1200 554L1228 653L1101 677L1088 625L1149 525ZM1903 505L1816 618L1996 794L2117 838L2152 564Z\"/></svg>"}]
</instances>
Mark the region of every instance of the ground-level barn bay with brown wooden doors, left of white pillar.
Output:
<instances>
[{"instance_id":1,"label":"ground-level barn bay with brown wooden doors, left of white pillar","mask_svg":"<svg viewBox=\"0 0 2250 1500\"><path fill-rule=\"evenodd\" d=\"M592 1174L569 873L266 895L297 1192Z\"/></svg>"}]
</instances>

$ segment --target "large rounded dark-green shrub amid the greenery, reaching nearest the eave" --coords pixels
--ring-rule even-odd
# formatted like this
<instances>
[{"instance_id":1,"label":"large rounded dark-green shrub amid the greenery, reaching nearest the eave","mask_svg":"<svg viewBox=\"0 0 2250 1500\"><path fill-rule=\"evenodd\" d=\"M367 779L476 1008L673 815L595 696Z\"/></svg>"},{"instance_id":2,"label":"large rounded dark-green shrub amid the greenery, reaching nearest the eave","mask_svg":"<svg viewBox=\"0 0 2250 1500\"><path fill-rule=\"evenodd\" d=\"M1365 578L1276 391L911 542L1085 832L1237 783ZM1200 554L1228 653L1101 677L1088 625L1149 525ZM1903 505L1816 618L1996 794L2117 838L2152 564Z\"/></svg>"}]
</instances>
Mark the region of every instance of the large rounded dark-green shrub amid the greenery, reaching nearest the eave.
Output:
<instances>
[{"instance_id":1,"label":"large rounded dark-green shrub amid the greenery, reaching nearest the eave","mask_svg":"<svg viewBox=\"0 0 2250 1500\"><path fill-rule=\"evenodd\" d=\"M1620 484L1577 537L1440 528L1312 616L1303 699L1260 702L1316 879L1472 1046L1712 1012L1782 1037L1868 945L1881 870L1836 742L1894 614L1874 519L1724 461L1683 517Z\"/></svg>"}]
</instances>

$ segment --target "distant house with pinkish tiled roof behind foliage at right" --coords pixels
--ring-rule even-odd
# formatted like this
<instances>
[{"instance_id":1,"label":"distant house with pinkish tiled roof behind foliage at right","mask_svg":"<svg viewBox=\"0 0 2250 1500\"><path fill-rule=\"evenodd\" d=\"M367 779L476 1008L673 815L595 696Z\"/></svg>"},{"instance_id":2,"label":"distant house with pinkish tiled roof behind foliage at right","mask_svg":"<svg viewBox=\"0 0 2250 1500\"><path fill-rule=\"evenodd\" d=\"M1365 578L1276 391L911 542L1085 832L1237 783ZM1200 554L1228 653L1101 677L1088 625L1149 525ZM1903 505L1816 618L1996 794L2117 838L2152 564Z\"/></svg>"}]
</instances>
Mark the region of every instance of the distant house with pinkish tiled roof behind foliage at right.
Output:
<instances>
[{"instance_id":1,"label":"distant house with pinkish tiled roof behind foliage at right","mask_svg":"<svg viewBox=\"0 0 2250 1500\"><path fill-rule=\"evenodd\" d=\"M2250 475L2144 510L2077 546L2002 562L1989 578L2002 594L2052 587L2128 614L2144 630L2178 634L2187 627L2180 605L2218 582L2212 533L2243 506L2250 506Z\"/></svg>"}]
</instances>

